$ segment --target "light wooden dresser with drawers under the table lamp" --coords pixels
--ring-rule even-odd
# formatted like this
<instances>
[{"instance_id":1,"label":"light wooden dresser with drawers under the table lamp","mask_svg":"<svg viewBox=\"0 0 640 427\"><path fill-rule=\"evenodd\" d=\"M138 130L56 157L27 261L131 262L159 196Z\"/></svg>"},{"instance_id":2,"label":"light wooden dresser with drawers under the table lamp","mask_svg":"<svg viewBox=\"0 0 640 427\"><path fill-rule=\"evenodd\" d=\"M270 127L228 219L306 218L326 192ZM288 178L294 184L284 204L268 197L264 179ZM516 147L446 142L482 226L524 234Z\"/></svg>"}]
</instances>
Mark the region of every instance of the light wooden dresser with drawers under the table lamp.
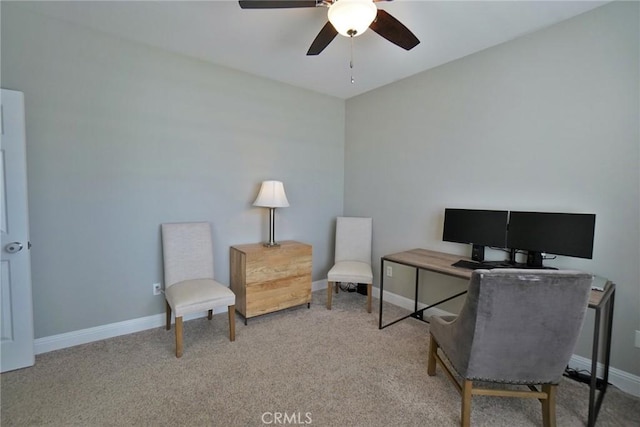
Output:
<instances>
[{"instance_id":1,"label":"light wooden dresser with drawers under the table lamp","mask_svg":"<svg viewBox=\"0 0 640 427\"><path fill-rule=\"evenodd\" d=\"M311 303L312 249L292 240L280 246L262 243L231 246L231 290L236 311L247 319Z\"/></svg>"}]
</instances>

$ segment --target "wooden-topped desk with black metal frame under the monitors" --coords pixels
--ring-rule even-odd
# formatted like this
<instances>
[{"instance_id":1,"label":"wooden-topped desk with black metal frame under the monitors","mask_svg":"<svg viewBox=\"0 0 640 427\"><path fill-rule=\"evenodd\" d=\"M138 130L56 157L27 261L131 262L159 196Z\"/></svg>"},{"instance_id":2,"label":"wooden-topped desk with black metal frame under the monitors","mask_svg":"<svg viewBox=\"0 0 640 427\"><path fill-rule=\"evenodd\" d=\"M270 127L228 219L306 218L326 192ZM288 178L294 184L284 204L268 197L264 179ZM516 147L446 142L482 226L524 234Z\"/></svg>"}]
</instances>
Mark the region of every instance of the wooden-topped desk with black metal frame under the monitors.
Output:
<instances>
[{"instance_id":1,"label":"wooden-topped desk with black metal frame under the monitors","mask_svg":"<svg viewBox=\"0 0 640 427\"><path fill-rule=\"evenodd\" d=\"M418 309L418 286L420 283L420 270L433 271L436 273L445 274L447 276L458 277L460 279L469 280L471 278L471 272L473 270L469 270L466 268L453 267L451 264L455 263L459 260L470 260L469 258L460 256L447 254L443 252L430 251L427 249L411 249L409 251L398 252L391 255L385 255L380 260L380 311L379 311L379 320L378 320L378 328L383 329L387 326L391 326L394 323L397 323L401 320L404 320L408 317L413 317L418 320L422 320L423 322L428 322L424 319L423 313L427 308L435 307L439 304L447 302L451 299L457 298L461 295L467 293L467 291L459 292L455 295L452 295L443 300L437 301L434 304L430 304L426 308ZM384 263L385 261L394 262L396 264L402 264L409 267L414 267L416 269L416 281L415 281L415 299L414 299L414 310L413 313L410 313L404 317L396 319L386 325L382 324L382 302L384 295ZM591 355L591 373L587 378L578 379L579 381L585 382L589 384L589 419L587 421L587 426L592 427L596 423L596 418L598 417L598 412L600 411L600 406L602 404L602 399L607 391L607 385L609 381L609 362L610 362L610 354L611 354L611 331L613 326L613 303L615 300L615 292L616 285L611 281L604 279L602 277L594 276L594 285L602 288L603 290L592 290L591 295L589 296L589 305L590 309L595 310L595 320L594 320L594 330L593 330L593 344L592 344L592 355ZM604 312L604 316L603 316ZM604 340L602 342L603 347L601 348L600 343L600 328L603 327L604 332ZM597 367L598 367L598 359L600 353L603 354L604 358L604 369L602 378L598 377ZM569 377L572 379L576 379L573 377ZM598 391L598 395L596 396L596 391Z\"/></svg>"}]
</instances>

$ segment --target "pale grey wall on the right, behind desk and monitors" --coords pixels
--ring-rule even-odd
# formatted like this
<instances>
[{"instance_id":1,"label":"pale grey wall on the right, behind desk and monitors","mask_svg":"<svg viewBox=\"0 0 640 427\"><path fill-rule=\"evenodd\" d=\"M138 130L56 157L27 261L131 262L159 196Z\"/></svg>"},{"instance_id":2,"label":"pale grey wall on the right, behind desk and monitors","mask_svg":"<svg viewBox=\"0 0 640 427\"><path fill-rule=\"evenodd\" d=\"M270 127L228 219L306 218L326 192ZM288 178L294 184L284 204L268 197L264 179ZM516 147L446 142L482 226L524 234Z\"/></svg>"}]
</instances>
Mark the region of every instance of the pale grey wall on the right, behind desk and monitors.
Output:
<instances>
[{"instance_id":1,"label":"pale grey wall on the right, behind desk and monitors","mask_svg":"<svg viewBox=\"0 0 640 427\"><path fill-rule=\"evenodd\" d=\"M445 207L595 213L593 260L547 264L617 284L612 364L635 375L638 17L637 2L616 2L352 98L345 153L345 214L373 217L376 259L414 247L469 254L441 241ZM385 290L411 297L413 276L399 271ZM587 330L578 353L590 358Z\"/></svg>"}]
</instances>

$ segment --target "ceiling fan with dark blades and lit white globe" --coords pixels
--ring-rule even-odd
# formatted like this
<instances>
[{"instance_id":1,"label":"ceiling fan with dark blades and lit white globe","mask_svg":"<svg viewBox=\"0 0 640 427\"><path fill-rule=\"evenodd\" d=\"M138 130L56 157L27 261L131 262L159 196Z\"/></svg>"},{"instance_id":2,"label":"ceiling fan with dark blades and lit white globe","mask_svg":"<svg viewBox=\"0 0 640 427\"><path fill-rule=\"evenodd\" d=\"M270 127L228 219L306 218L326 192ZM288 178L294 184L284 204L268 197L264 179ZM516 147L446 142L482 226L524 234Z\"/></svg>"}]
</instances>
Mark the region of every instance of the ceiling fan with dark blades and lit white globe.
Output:
<instances>
[{"instance_id":1,"label":"ceiling fan with dark blades and lit white globe","mask_svg":"<svg viewBox=\"0 0 640 427\"><path fill-rule=\"evenodd\" d=\"M240 0L242 9L288 9L328 7L328 21L316 36L307 55L318 55L338 35L355 37L367 28L405 50L411 50L420 40L388 12L374 3L391 0Z\"/></svg>"}]
</instances>

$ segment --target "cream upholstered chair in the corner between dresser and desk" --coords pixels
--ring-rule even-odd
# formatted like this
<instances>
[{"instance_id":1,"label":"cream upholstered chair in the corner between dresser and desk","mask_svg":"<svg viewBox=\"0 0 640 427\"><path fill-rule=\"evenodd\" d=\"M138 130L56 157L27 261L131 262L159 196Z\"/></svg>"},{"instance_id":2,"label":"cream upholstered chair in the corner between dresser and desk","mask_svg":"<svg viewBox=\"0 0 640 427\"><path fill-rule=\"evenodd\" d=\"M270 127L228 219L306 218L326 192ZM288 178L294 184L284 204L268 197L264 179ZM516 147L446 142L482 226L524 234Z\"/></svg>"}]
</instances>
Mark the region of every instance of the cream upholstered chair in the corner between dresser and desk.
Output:
<instances>
[{"instance_id":1,"label":"cream upholstered chair in the corner between dresser and desk","mask_svg":"<svg viewBox=\"0 0 640 427\"><path fill-rule=\"evenodd\" d=\"M327 274L327 309L331 310L333 287L339 283L366 283L367 311L371 313L371 218L338 217L334 266Z\"/></svg>"}]
</instances>

